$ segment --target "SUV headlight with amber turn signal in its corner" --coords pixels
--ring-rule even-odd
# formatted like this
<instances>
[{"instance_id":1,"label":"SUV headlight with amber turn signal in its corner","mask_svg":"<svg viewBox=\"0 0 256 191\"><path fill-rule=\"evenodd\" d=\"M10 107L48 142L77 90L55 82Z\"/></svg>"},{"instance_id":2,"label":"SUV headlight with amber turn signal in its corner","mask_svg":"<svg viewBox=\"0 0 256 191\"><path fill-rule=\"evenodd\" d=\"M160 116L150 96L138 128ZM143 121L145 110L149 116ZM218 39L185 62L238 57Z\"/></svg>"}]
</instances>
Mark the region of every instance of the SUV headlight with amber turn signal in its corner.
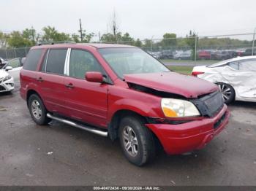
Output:
<instances>
[{"instance_id":1,"label":"SUV headlight with amber turn signal in its corner","mask_svg":"<svg viewBox=\"0 0 256 191\"><path fill-rule=\"evenodd\" d=\"M161 106L165 117L200 116L200 113L195 105L189 101L173 98L162 98Z\"/></svg>"}]
</instances>

